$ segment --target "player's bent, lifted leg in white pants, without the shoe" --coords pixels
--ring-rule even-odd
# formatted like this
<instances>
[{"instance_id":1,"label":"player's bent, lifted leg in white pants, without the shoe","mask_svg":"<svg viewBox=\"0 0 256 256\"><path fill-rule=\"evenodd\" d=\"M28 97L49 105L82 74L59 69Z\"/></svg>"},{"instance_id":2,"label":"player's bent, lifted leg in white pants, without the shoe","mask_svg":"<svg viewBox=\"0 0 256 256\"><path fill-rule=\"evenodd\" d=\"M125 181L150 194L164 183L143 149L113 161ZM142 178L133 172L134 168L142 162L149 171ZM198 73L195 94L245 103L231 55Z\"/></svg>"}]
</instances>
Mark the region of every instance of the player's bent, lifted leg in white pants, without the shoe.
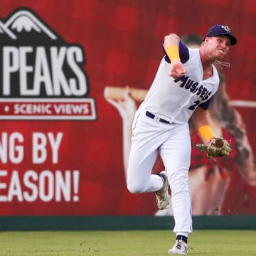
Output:
<instances>
[{"instance_id":1,"label":"player's bent, lifted leg in white pants, without the shoe","mask_svg":"<svg viewBox=\"0 0 256 256\"><path fill-rule=\"evenodd\" d=\"M127 188L131 193L155 192L162 188L163 179L151 174L162 139L159 122L137 113L127 169Z\"/></svg>"}]
</instances>

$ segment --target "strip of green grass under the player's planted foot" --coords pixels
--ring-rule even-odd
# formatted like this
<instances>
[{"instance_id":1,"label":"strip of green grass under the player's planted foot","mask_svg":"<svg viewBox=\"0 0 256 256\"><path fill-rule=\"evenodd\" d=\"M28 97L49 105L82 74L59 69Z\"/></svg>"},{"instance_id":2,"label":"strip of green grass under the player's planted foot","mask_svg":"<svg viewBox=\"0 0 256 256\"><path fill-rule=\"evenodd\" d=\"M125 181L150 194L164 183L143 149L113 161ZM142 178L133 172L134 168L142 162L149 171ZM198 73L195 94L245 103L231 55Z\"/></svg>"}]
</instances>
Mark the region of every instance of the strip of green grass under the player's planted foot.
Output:
<instances>
[{"instance_id":1,"label":"strip of green grass under the player's planted foot","mask_svg":"<svg viewBox=\"0 0 256 256\"><path fill-rule=\"evenodd\" d=\"M189 255L256 255L256 230L195 230ZM1 256L167 255L170 230L1 232Z\"/></svg>"}]
</instances>

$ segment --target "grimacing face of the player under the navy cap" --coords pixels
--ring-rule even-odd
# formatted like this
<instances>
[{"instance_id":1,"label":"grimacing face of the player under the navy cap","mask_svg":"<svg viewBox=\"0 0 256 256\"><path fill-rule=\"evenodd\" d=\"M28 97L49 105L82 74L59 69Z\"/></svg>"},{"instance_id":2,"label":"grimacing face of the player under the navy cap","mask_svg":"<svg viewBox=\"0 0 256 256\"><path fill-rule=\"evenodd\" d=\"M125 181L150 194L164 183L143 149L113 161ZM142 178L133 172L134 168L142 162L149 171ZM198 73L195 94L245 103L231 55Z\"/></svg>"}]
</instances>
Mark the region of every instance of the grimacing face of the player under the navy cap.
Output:
<instances>
[{"instance_id":1,"label":"grimacing face of the player under the navy cap","mask_svg":"<svg viewBox=\"0 0 256 256\"><path fill-rule=\"evenodd\" d=\"M230 48L230 38L228 36L212 36L208 38L208 55L211 58L222 59Z\"/></svg>"}]
</instances>

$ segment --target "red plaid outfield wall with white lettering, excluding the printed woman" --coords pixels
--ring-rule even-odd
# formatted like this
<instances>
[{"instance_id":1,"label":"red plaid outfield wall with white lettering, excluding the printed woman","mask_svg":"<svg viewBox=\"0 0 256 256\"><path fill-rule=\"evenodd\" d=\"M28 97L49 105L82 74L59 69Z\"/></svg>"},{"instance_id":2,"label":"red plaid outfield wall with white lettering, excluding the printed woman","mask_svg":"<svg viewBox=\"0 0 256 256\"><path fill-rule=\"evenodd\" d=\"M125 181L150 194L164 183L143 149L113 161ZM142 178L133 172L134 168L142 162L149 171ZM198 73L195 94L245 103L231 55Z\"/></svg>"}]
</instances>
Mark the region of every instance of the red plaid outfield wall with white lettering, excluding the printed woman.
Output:
<instances>
[{"instance_id":1,"label":"red plaid outfield wall with white lettering, excluding the printed woman","mask_svg":"<svg viewBox=\"0 0 256 256\"><path fill-rule=\"evenodd\" d=\"M187 3L1 2L0 215L154 215L153 194L127 191L122 120L104 89L147 90L171 31L233 28L223 72L230 100L250 103L235 108L256 150L255 2ZM222 213L255 214L256 187L238 169L227 184Z\"/></svg>"}]
</instances>

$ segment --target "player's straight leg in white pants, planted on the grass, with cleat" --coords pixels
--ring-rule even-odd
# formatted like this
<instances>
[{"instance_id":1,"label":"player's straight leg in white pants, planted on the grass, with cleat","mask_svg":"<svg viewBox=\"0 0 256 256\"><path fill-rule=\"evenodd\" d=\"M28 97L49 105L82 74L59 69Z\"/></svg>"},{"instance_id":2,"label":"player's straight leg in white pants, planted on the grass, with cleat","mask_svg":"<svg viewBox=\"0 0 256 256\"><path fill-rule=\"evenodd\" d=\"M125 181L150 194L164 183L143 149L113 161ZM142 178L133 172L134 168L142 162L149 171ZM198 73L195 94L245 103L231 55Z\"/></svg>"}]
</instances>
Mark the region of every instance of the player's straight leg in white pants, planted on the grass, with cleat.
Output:
<instances>
[{"instance_id":1,"label":"player's straight leg in white pants, planted on the grass, with cleat","mask_svg":"<svg viewBox=\"0 0 256 256\"><path fill-rule=\"evenodd\" d=\"M191 139L188 126L184 124L179 126L178 130L171 131L169 138L166 139L159 152L166 166L171 187L175 220L174 233L176 233L177 240L182 239L186 242L188 234L192 232L191 193L188 188ZM186 250L185 245L182 243L183 250ZM180 247L179 244L177 246Z\"/></svg>"}]
</instances>

